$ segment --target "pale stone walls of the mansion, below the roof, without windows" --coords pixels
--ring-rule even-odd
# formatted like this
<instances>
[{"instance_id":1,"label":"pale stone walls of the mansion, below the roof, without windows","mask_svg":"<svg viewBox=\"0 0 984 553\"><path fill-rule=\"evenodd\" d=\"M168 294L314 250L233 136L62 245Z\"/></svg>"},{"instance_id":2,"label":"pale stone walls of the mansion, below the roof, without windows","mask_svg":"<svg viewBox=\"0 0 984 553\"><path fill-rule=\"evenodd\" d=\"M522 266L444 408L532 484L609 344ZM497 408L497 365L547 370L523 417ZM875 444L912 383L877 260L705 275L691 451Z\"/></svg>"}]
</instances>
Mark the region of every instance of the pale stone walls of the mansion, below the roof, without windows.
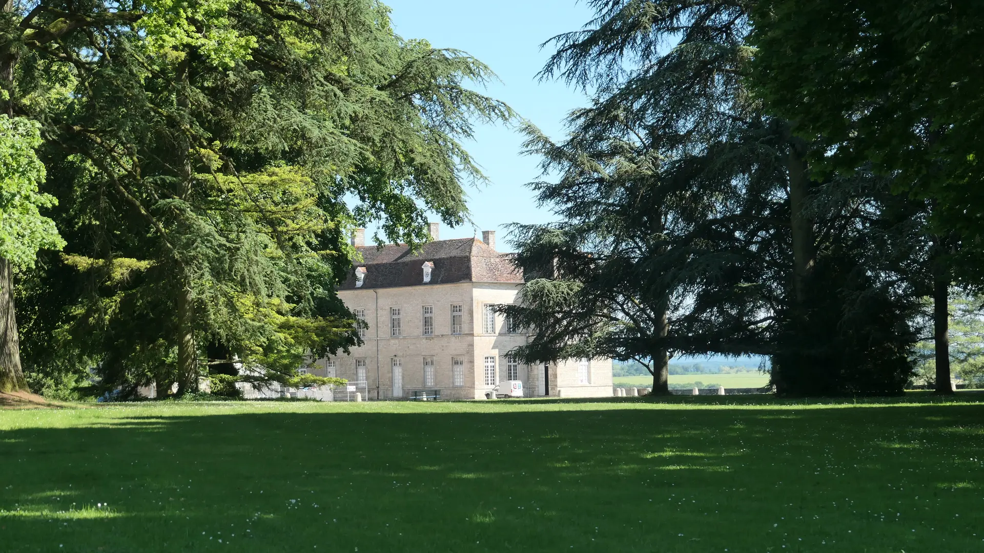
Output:
<instances>
[{"instance_id":1,"label":"pale stone walls of the mansion, below the roof, without windows","mask_svg":"<svg viewBox=\"0 0 984 553\"><path fill-rule=\"evenodd\" d=\"M402 395L413 390L440 389L442 399L484 399L494 386L485 385L485 357L495 358L495 382L507 380L507 353L522 345L525 334L507 334L502 315L495 316L495 332L484 333L482 313L487 304L508 304L516 300L522 284L515 282L461 282L402 286L391 288L338 290L338 296L350 309L365 310L369 325L361 347L349 355L339 353L330 358L336 362L335 375L349 381L357 380L355 363L365 360L369 399L394 397L393 363L400 360ZM453 304L462 307L462 333L452 334ZM434 334L423 336L423 306L433 306ZM400 308L400 337L391 336L391 308ZM377 320L378 313L378 320ZM378 327L378 328L377 328ZM377 356L377 349L379 355ZM424 358L434 358L433 386L424 382ZM454 357L464 360L463 386L453 382ZM326 361L315 362L313 374L331 376ZM539 366L521 364L519 380L523 381L523 396L539 394ZM578 362L569 361L551 366L550 396L569 398L604 397L612 385L610 359L592 360L588 383L580 382ZM378 374L378 377L377 377ZM399 392L399 391L396 391Z\"/></svg>"}]
</instances>

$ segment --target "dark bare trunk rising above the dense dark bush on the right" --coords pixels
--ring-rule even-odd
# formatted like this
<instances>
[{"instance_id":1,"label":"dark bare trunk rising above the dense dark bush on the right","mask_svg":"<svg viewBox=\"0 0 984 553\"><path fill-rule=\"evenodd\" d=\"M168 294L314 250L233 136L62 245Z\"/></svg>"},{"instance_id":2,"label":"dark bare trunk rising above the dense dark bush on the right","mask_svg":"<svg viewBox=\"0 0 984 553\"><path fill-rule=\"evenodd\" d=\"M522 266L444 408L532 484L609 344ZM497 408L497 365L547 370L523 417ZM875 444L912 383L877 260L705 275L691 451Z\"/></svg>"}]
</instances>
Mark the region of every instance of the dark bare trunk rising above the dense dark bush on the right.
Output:
<instances>
[{"instance_id":1,"label":"dark bare trunk rising above the dense dark bush on the right","mask_svg":"<svg viewBox=\"0 0 984 553\"><path fill-rule=\"evenodd\" d=\"M807 168L806 143L790 138L786 169L789 172L789 222L793 241L793 292L799 306L807 301L810 276L817 263L813 220L805 214L806 199L810 194Z\"/></svg>"}]
</instances>

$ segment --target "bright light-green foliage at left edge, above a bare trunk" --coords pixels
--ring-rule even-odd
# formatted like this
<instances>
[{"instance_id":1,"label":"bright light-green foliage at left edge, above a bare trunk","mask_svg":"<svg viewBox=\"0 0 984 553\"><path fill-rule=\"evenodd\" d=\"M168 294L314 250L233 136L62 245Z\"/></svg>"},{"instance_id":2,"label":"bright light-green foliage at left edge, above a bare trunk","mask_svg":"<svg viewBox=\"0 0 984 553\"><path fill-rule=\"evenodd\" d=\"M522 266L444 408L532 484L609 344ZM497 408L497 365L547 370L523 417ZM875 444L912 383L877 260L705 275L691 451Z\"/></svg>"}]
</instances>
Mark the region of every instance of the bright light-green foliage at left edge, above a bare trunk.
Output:
<instances>
[{"instance_id":1,"label":"bright light-green foliage at left edge, above a bare trunk","mask_svg":"<svg viewBox=\"0 0 984 553\"><path fill-rule=\"evenodd\" d=\"M0 257L31 268L40 249L59 250L65 240L54 221L39 208L58 202L38 192L44 164L35 149L41 145L37 123L0 114Z\"/></svg>"}]
</instances>

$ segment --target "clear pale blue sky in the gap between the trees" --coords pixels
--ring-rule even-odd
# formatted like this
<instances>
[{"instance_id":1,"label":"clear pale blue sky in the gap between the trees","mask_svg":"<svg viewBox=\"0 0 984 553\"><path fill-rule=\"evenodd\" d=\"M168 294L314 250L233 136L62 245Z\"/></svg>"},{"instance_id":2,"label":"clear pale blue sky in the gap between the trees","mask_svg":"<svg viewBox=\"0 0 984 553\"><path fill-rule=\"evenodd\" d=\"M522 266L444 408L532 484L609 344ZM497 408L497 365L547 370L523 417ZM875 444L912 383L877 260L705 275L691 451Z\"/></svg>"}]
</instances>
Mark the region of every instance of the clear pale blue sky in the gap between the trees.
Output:
<instances>
[{"instance_id":1,"label":"clear pale blue sky in the gap between the trees","mask_svg":"<svg viewBox=\"0 0 984 553\"><path fill-rule=\"evenodd\" d=\"M395 30L403 38L426 38L438 48L458 48L489 65L502 83L484 91L511 105L552 138L564 135L567 113L584 106L584 94L561 82L538 82L536 73L553 52L539 44L567 31L577 31L591 19L584 2L576 0L384 0L393 9ZM546 222L548 210L537 208L533 194L523 186L539 174L536 157L520 154L523 138L513 129L482 126L467 143L489 184L469 187L468 209L475 226L449 228L442 224L441 238L481 237L482 230L496 230L498 249L512 251L506 243L505 224ZM434 219L437 220L437 219ZM369 234L374 230L369 229Z\"/></svg>"}]
</instances>

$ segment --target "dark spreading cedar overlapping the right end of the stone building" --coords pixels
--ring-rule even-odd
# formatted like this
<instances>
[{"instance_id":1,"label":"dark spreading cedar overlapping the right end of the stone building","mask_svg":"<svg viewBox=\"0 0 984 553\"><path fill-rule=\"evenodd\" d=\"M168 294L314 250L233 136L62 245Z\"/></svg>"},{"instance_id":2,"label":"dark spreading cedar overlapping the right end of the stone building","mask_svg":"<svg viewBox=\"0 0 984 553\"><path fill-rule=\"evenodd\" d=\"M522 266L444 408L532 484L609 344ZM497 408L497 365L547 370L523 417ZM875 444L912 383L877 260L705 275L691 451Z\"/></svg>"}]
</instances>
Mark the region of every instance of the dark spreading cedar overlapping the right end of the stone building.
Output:
<instances>
[{"instance_id":1,"label":"dark spreading cedar overlapping the right end of the stone building","mask_svg":"<svg viewBox=\"0 0 984 553\"><path fill-rule=\"evenodd\" d=\"M876 240L916 237L920 207L895 206L870 171L810 178L814 145L746 88L751 4L591 5L545 75L593 105L561 145L529 131L561 171L534 186L562 222L518 229L517 261L539 277L506 308L536 329L520 353L651 358L657 392L674 352L770 355L782 394L900 392L910 258Z\"/></svg>"}]
</instances>

